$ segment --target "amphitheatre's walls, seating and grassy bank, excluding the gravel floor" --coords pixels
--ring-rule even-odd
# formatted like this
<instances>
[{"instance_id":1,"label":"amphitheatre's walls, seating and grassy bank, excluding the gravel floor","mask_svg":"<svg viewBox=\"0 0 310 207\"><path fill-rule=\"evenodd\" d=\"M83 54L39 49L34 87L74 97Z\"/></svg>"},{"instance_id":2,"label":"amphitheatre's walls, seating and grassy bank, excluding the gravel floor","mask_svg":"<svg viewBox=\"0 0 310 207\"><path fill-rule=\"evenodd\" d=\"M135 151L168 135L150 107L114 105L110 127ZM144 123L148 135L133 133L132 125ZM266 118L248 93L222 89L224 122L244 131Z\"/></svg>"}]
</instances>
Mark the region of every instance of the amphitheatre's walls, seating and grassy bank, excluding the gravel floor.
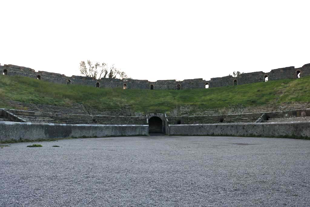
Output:
<instances>
[{"instance_id":1,"label":"amphitheatre's walls, seating and grassy bank, excluding the gravel floor","mask_svg":"<svg viewBox=\"0 0 310 207\"><path fill-rule=\"evenodd\" d=\"M57 90L75 90L72 91L75 93L83 90L99 91L104 94L112 92L115 94L114 96L118 94L120 98L129 93L132 95L133 92L135 92L135 96L139 94L141 99L147 99L148 96L150 100L152 98L161 100L166 97L168 92L173 93L173 96L179 96L169 98L170 100L175 99L175 103L171 101L168 104L162 101L157 104L161 106L149 107L148 105L151 105L153 101L142 105L143 101L140 99L141 106L138 103L140 101L135 103L135 100L130 99L131 97L127 97L126 101L113 102L113 95L106 98L108 100L104 99L104 96L101 97L102 102L96 98L93 102L86 103L68 100L72 95L69 92L66 95L52 92L54 94L50 99L62 96L62 102L54 101L56 104L46 104L47 101L42 98L45 95L48 96L47 93L45 95L40 92L38 94L29 93L28 101L24 101L25 99L18 96L10 98L10 95L5 95L1 102L3 105L0 122L1 141L66 137L146 136L149 134L303 139L310 137L310 103L307 101L307 97L302 95L295 97L296 100L293 98L293 101L289 99L290 96L299 94L297 93L299 89L294 87L298 87L299 83L306 85L309 83L310 64L300 68L290 66L274 69L268 73L262 71L244 73L238 77L229 75L211 78L207 81L186 79L183 81L158 80L156 82L135 79L124 82L120 79L108 78L95 80L90 77L74 75L67 77L45 71L36 72L31 68L16 65L0 65L0 70L3 72L1 80L3 86L9 85L10 81L16 81L15 77L18 77L19 81L26 84L23 88L34 87L31 89L34 91L43 87L42 85L36 88L39 84L45 84L44 87L47 88L60 87ZM34 86L36 84L38 86ZM268 86L269 88L262 88L262 90L256 89ZM5 87L2 87L2 90L5 90ZM228 90L230 93L225 94ZM268 94L263 93L268 90ZM199 97L201 100L208 98L208 92L212 91L216 92L216 94L212 94L213 100L199 102ZM304 88L303 91L304 94L309 93L308 88ZM244 97L243 102L242 97L238 97L238 92L248 95ZM24 92L21 91L21 93ZM194 94L195 97L190 97L189 93ZM197 94L195 95L195 93ZM233 94L237 96L237 100L235 97L232 104L229 99L233 99L231 97ZM221 99L215 100L214 96ZM195 98L196 101L186 102L186 99L190 98ZM299 101L300 98L306 101ZM108 103L105 105L105 102ZM223 105L221 106L221 104ZM135 105L139 105L139 107Z\"/></svg>"}]
</instances>

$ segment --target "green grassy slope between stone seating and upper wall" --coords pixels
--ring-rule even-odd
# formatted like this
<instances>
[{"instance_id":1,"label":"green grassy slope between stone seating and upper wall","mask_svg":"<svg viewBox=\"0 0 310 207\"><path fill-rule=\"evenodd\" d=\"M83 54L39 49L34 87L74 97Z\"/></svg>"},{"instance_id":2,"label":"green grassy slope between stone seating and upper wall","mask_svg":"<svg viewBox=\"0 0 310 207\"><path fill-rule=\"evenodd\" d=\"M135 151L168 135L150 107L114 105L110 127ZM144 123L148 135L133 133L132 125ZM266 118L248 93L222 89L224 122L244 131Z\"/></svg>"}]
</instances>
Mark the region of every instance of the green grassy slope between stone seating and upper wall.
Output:
<instances>
[{"instance_id":1,"label":"green grassy slope between stone seating and upper wall","mask_svg":"<svg viewBox=\"0 0 310 207\"><path fill-rule=\"evenodd\" d=\"M280 102L310 101L310 76L239 86L188 90L123 90L49 83L28 77L0 76L0 107L6 100L69 106L70 102L117 109L129 104L134 111L165 112L177 105L224 108L230 105L262 105L284 92ZM289 87L284 87L284 86Z\"/></svg>"}]
</instances>

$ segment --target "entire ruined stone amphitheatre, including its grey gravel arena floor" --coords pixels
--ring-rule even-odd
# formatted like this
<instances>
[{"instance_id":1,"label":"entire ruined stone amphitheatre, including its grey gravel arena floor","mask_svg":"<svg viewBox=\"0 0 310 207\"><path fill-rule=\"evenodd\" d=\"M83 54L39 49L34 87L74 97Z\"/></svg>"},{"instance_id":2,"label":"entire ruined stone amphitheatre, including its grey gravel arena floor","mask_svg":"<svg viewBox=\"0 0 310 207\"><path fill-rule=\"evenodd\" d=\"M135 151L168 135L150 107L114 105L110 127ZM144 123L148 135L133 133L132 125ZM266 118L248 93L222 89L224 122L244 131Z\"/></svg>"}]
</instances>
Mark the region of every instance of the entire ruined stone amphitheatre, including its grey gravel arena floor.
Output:
<instances>
[{"instance_id":1,"label":"entire ruined stone amphitheatre, including its grey gravel arena floor","mask_svg":"<svg viewBox=\"0 0 310 207\"><path fill-rule=\"evenodd\" d=\"M309 206L310 64L156 82L0 70L0 207Z\"/></svg>"}]
</instances>

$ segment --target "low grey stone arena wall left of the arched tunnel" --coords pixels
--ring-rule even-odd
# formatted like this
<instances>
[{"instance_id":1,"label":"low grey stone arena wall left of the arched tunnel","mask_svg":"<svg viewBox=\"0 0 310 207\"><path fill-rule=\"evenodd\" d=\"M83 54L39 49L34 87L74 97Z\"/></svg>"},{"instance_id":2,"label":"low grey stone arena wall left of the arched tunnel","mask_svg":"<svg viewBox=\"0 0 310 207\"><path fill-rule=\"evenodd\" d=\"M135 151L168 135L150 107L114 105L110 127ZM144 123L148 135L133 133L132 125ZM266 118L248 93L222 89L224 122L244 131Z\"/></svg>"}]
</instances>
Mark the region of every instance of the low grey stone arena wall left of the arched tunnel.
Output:
<instances>
[{"instance_id":1,"label":"low grey stone arena wall left of the arched tunnel","mask_svg":"<svg viewBox=\"0 0 310 207\"><path fill-rule=\"evenodd\" d=\"M148 135L148 125L45 124L0 121L0 141Z\"/></svg>"}]
</instances>

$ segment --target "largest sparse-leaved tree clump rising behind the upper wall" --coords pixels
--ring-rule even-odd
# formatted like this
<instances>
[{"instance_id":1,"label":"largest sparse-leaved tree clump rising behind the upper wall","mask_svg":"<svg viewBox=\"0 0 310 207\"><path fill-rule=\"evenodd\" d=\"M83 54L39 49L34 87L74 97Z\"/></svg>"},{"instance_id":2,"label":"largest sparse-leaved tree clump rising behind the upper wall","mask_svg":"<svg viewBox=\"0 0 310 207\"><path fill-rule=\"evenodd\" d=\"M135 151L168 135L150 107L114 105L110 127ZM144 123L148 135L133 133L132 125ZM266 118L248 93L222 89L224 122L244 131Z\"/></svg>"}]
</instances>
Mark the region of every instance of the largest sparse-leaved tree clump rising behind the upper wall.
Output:
<instances>
[{"instance_id":1,"label":"largest sparse-leaved tree clump rising behind the upper wall","mask_svg":"<svg viewBox=\"0 0 310 207\"><path fill-rule=\"evenodd\" d=\"M87 66L85 61L80 62L80 73L86 77L92 77L93 79L109 78L116 79L117 76L123 81L131 80L128 78L127 74L121 70L118 70L114 64L110 67L110 72L108 72L108 65L106 63L96 62L95 65L90 60L87 60Z\"/></svg>"}]
</instances>

